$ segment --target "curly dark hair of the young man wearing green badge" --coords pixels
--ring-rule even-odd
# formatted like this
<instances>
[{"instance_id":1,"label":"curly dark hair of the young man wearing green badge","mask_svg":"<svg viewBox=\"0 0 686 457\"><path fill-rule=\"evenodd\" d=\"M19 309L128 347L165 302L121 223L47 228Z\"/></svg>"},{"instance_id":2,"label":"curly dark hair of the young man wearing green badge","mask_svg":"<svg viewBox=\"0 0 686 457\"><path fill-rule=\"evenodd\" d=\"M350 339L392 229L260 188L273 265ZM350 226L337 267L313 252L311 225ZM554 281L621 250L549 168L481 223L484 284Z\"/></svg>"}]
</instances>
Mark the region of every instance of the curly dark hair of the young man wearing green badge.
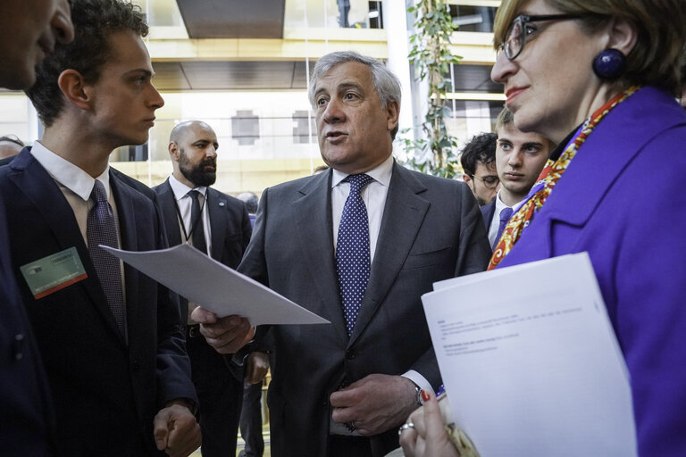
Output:
<instances>
[{"instance_id":1,"label":"curly dark hair of the young man wearing green badge","mask_svg":"<svg viewBox=\"0 0 686 457\"><path fill-rule=\"evenodd\" d=\"M100 78L100 69L112 56L108 38L113 32L132 30L147 36L145 16L138 5L121 0L70 0L74 40L57 43L54 53L36 67L36 83L26 91L40 120L50 127L63 109L57 79L65 70L75 70L88 83Z\"/></svg>"}]
</instances>

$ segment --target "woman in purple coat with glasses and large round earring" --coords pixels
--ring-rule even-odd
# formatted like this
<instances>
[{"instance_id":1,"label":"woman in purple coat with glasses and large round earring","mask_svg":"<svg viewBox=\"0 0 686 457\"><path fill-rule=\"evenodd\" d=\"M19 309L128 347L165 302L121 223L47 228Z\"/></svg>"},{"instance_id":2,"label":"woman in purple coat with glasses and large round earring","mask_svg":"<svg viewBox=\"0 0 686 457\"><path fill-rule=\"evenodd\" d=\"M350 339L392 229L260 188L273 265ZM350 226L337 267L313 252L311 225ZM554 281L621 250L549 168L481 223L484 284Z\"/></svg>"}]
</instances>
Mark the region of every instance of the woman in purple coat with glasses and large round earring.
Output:
<instances>
[{"instance_id":1,"label":"woman in purple coat with glasses and large round earring","mask_svg":"<svg viewBox=\"0 0 686 457\"><path fill-rule=\"evenodd\" d=\"M686 7L504 0L494 42L491 78L515 126L560 147L489 268L587 251L629 369L639 454L686 455L686 112L673 98ZM431 400L413 414L406 455L458 455L436 412Z\"/></svg>"}]
</instances>

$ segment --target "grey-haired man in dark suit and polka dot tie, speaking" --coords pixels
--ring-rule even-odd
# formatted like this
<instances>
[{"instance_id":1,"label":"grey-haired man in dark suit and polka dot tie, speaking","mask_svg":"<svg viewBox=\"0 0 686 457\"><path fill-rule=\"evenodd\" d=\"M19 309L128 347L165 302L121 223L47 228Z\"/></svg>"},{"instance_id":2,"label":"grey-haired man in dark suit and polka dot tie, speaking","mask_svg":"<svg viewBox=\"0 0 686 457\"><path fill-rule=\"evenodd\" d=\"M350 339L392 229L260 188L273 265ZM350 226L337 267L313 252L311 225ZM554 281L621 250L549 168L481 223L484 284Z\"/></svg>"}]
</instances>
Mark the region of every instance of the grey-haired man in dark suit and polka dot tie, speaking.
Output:
<instances>
[{"instance_id":1,"label":"grey-haired man in dark suit and polka dot tie, speaking","mask_svg":"<svg viewBox=\"0 0 686 457\"><path fill-rule=\"evenodd\" d=\"M272 455L377 457L440 384L421 295L490 250L464 183L394 162L400 87L381 62L327 54L310 87L331 170L264 191L239 268L331 321L271 328ZM194 318L218 347L237 339L235 318Z\"/></svg>"}]
</instances>

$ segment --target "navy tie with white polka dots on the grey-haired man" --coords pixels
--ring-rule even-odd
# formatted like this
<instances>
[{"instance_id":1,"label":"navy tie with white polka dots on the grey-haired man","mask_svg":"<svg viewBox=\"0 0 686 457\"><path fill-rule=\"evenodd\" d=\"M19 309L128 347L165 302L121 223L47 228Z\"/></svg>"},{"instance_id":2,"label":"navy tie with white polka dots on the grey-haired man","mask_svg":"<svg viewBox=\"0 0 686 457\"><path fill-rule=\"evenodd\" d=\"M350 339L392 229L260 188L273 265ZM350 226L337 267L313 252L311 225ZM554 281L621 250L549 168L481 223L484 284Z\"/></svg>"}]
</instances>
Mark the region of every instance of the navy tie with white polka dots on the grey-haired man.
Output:
<instances>
[{"instance_id":1,"label":"navy tie with white polka dots on the grey-haired man","mask_svg":"<svg viewBox=\"0 0 686 457\"><path fill-rule=\"evenodd\" d=\"M336 270L339 273L340 296L346 318L347 335L353 333L362 297L369 282L369 220L362 191L373 179L367 175L349 175L350 183L336 243Z\"/></svg>"}]
</instances>

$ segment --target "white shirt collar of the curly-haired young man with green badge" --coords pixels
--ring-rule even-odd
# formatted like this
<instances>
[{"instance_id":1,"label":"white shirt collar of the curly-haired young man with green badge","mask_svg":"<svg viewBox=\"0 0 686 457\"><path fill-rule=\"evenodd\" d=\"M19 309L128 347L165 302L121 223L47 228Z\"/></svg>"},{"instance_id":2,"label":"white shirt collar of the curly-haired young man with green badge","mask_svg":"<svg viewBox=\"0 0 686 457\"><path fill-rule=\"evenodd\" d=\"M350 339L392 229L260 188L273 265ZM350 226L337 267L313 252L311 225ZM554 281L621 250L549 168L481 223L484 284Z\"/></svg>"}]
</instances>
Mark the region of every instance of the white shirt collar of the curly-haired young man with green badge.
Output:
<instances>
[{"instance_id":1,"label":"white shirt collar of the curly-haired young man with green badge","mask_svg":"<svg viewBox=\"0 0 686 457\"><path fill-rule=\"evenodd\" d=\"M105 194L110 198L110 166L107 165L105 171L94 179L86 171L78 166L63 159L54 152L50 151L39 141L31 147L31 155L46 169L47 173L57 182L67 187L71 192L79 195L83 200L88 201L96 179L105 186Z\"/></svg>"}]
</instances>

